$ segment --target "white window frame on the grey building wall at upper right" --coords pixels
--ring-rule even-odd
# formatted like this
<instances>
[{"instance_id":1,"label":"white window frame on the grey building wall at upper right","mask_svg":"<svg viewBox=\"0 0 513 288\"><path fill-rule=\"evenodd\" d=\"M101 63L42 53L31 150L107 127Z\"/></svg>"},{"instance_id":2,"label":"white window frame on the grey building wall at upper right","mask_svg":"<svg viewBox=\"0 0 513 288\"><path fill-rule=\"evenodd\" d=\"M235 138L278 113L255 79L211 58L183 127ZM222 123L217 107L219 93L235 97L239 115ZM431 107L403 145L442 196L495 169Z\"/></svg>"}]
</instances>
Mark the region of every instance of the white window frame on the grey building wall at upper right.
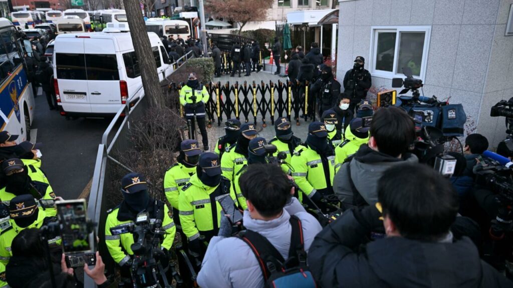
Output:
<instances>
[{"instance_id":1,"label":"white window frame on the grey building wall at upper right","mask_svg":"<svg viewBox=\"0 0 513 288\"><path fill-rule=\"evenodd\" d=\"M393 68L392 72L377 70L376 67L376 53L377 53L377 43L378 43L378 32L396 32L396 49L394 51L393 56ZM369 72L372 76L381 77L381 78L404 78L405 75L400 71L400 68L397 67L397 61L399 57L399 43L401 32L425 32L424 36L424 48L422 51L422 62L420 69L419 78L425 80L426 76L426 68L427 68L427 56L429 53L429 40L431 39L431 26L372 26L370 29L370 49L369 49L369 62L370 69ZM417 76L413 76L417 77Z\"/></svg>"}]
</instances>

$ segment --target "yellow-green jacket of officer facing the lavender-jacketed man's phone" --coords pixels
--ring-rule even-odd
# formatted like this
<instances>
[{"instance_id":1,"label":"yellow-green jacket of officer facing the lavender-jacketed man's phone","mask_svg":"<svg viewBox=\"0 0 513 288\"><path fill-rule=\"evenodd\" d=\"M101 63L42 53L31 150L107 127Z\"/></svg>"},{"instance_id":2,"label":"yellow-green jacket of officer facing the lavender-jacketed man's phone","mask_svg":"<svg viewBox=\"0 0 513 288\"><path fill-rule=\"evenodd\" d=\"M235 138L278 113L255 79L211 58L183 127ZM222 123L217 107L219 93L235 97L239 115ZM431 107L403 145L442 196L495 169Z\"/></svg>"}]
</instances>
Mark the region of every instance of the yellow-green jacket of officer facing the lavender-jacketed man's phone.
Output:
<instances>
[{"instance_id":1,"label":"yellow-green jacket of officer facing the lavender-jacketed man's phone","mask_svg":"<svg viewBox=\"0 0 513 288\"><path fill-rule=\"evenodd\" d=\"M218 186L221 186L218 190ZM179 196L180 224L189 241L198 239L201 232L218 229L222 208L215 197L230 193L230 182L226 178L216 187L203 184L198 174L191 176L189 183L182 188ZM212 202L215 202L215 216L212 215ZM214 223L214 219L217 219Z\"/></svg>"}]
</instances>

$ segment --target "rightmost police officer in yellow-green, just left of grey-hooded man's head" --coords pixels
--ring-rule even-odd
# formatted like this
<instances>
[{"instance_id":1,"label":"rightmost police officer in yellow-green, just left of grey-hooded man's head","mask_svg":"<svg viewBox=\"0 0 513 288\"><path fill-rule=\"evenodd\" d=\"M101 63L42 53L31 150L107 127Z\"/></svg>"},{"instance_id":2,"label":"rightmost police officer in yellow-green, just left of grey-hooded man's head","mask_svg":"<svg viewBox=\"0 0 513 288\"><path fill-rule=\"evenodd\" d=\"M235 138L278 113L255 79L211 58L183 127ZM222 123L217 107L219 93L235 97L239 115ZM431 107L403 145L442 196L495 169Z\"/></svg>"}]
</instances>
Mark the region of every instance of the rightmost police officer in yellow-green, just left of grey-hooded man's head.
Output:
<instances>
[{"instance_id":1,"label":"rightmost police officer in yellow-green, just left of grey-hooded man's head","mask_svg":"<svg viewBox=\"0 0 513 288\"><path fill-rule=\"evenodd\" d=\"M342 163L360 149L362 144L369 141L370 127L363 127L362 118L353 118L346 129L345 140L335 147L335 172L338 172Z\"/></svg>"}]
</instances>

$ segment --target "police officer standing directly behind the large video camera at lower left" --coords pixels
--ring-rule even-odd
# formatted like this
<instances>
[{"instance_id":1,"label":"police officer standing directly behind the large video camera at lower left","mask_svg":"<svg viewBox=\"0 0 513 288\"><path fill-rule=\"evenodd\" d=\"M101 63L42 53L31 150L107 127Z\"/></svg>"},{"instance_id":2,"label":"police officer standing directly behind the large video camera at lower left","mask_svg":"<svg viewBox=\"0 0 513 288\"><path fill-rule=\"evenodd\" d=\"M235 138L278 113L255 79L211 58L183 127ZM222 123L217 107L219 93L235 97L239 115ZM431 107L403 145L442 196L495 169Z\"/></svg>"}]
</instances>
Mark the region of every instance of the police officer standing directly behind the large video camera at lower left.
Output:
<instances>
[{"instance_id":1,"label":"police officer standing directly behind the large video camera at lower left","mask_svg":"<svg viewBox=\"0 0 513 288\"><path fill-rule=\"evenodd\" d=\"M171 249L176 227L167 205L157 199L152 199L148 194L148 186L144 175L129 173L121 179L121 191L123 201L114 209L107 211L105 223L105 243L112 259L120 265L120 273L123 278L130 278L130 266L132 264L134 243L132 233L112 235L111 229L123 230L130 223L134 223L141 212L147 212L150 219L162 217L162 230L166 231L161 242L165 254Z\"/></svg>"}]
</instances>

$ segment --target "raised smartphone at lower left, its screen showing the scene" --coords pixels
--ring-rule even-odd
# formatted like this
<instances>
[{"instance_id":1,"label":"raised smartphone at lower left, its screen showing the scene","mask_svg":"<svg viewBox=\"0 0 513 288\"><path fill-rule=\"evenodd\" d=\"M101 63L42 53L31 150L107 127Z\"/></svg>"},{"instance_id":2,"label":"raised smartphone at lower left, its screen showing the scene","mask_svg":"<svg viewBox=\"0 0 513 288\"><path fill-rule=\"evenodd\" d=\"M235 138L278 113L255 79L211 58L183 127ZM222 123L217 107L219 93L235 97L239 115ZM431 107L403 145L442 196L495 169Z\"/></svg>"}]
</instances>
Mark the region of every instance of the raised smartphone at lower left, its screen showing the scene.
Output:
<instances>
[{"instance_id":1,"label":"raised smartphone at lower left, its screen showing the scene","mask_svg":"<svg viewBox=\"0 0 513 288\"><path fill-rule=\"evenodd\" d=\"M91 243L86 216L86 200L57 201L57 216L62 225L63 251L90 252Z\"/></svg>"}]
</instances>

